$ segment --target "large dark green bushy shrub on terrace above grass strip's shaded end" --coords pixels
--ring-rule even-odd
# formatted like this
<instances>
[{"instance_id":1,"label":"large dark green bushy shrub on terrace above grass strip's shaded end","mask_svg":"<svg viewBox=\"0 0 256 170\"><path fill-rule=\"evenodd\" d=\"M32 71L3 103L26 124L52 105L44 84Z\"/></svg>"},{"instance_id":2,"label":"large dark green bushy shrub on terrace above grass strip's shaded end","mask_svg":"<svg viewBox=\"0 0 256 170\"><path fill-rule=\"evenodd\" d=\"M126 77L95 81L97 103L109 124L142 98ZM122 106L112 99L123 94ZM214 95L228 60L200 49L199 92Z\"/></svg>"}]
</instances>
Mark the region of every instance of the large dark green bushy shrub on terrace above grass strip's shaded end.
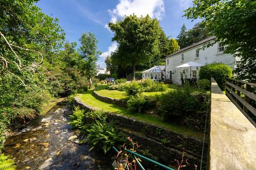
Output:
<instances>
[{"instance_id":1,"label":"large dark green bushy shrub on terrace above grass strip's shaded end","mask_svg":"<svg viewBox=\"0 0 256 170\"><path fill-rule=\"evenodd\" d=\"M199 106L197 98L189 90L172 90L159 98L158 109L165 120L180 117L182 114L196 111Z\"/></svg>"}]
</instances>

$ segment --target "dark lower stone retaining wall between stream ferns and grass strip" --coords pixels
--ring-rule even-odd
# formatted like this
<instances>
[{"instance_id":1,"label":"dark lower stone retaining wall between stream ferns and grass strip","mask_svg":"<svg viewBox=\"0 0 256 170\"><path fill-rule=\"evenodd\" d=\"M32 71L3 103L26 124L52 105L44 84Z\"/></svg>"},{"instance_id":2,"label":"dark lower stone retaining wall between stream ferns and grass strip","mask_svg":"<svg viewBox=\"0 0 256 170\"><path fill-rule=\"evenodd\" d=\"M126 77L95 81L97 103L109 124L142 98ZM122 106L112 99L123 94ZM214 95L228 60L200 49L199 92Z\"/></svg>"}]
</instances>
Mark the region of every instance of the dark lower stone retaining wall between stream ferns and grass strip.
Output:
<instances>
[{"instance_id":1,"label":"dark lower stone retaining wall between stream ferns and grass strip","mask_svg":"<svg viewBox=\"0 0 256 170\"><path fill-rule=\"evenodd\" d=\"M79 97L75 97L73 104L87 111L94 110L93 107L84 104ZM130 132L129 135L134 137L139 142L139 145L142 145L141 149L149 149L150 153L158 157L159 161L174 165L174 159L181 160L180 154L184 150L190 160L189 162L193 163L191 165L199 165L203 146L202 141L124 115L107 114L108 121L115 121L115 125L122 129L123 132ZM169 143L163 144L163 139L166 139ZM207 150L207 144L205 145L205 150ZM207 153L205 152L204 158L207 157L206 155ZM205 165L205 161L203 164Z\"/></svg>"}]
</instances>

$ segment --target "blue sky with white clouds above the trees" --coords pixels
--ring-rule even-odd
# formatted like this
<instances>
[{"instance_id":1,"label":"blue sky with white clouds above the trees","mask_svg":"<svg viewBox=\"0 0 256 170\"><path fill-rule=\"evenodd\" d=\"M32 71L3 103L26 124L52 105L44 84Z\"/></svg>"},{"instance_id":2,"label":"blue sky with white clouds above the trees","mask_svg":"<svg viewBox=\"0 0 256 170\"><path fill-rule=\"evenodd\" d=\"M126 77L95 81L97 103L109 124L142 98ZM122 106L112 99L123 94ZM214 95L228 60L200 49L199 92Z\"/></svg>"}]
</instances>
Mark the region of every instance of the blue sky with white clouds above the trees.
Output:
<instances>
[{"instance_id":1,"label":"blue sky with white clouds above the trees","mask_svg":"<svg viewBox=\"0 0 256 170\"><path fill-rule=\"evenodd\" d=\"M193 0L41 0L37 2L42 11L59 19L59 24L65 30L66 40L77 42L83 32L92 31L102 52L98 64L106 67L105 58L113 52L117 44L111 41L113 32L108 28L109 22L116 22L125 15L136 14L157 18L166 36L176 38L181 26L185 23L187 29L198 21L182 17L183 10L193 5Z\"/></svg>"}]
</instances>

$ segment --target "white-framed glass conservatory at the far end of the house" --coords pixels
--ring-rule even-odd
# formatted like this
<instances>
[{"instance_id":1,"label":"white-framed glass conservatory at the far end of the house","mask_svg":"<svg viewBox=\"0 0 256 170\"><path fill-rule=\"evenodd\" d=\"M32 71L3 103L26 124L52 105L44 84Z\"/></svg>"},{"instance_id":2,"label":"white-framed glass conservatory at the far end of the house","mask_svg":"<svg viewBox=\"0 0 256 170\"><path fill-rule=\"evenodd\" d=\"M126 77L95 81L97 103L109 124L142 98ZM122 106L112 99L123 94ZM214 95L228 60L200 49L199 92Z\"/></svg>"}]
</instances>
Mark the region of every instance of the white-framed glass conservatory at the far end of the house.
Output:
<instances>
[{"instance_id":1,"label":"white-framed glass conservatory at the far end of the house","mask_svg":"<svg viewBox=\"0 0 256 170\"><path fill-rule=\"evenodd\" d=\"M157 65L142 72L142 79L151 79L154 81L163 80L164 65Z\"/></svg>"}]
</instances>

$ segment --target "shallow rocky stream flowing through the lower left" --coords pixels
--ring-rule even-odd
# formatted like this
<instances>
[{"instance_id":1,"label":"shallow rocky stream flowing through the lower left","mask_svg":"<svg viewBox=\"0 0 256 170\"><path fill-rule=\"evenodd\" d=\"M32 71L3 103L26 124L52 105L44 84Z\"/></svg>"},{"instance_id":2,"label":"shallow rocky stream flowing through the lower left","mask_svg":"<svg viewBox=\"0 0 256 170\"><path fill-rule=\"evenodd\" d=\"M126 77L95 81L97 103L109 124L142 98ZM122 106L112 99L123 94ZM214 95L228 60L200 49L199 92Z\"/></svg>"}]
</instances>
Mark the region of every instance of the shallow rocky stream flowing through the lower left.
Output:
<instances>
[{"instance_id":1,"label":"shallow rocky stream flowing through the lower left","mask_svg":"<svg viewBox=\"0 0 256 170\"><path fill-rule=\"evenodd\" d=\"M112 169L109 158L89 151L86 136L72 130L69 114L68 106L58 103L25 129L13 132L5 141L4 154L14 159L17 169Z\"/></svg>"}]
</instances>

